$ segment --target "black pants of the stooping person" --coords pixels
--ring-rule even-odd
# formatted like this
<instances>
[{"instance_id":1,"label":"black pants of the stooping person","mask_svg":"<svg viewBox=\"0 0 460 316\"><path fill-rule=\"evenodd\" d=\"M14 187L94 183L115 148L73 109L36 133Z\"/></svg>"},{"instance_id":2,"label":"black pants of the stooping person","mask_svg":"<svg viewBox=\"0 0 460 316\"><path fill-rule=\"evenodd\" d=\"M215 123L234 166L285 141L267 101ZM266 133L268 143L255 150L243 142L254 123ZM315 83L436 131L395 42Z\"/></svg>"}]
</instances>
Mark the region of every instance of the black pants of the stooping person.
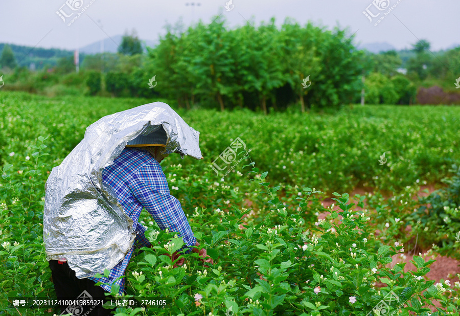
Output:
<instances>
[{"instance_id":1,"label":"black pants of the stooping person","mask_svg":"<svg viewBox=\"0 0 460 316\"><path fill-rule=\"evenodd\" d=\"M67 262L61 264L57 260L50 260L48 263L58 300L74 300L84 295L85 297L90 296L91 300L107 301L104 295L107 292L101 286L95 285L96 283L89 279L78 279L75 276L75 271L68 266ZM70 305L61 307L64 314L72 313L75 316L106 316L111 315L112 310L115 309L104 309L102 306Z\"/></svg>"}]
</instances>

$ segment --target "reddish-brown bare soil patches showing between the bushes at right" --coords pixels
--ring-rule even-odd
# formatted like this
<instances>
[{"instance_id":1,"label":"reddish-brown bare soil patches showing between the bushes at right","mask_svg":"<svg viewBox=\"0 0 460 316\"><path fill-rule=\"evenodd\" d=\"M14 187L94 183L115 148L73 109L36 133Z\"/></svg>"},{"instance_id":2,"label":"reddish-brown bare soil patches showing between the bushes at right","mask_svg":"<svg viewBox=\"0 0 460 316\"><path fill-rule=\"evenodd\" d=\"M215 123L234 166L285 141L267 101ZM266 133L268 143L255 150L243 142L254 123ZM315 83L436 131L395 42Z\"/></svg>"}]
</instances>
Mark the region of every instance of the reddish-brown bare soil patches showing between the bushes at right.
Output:
<instances>
[{"instance_id":1,"label":"reddish-brown bare soil patches showing between the bushes at right","mask_svg":"<svg viewBox=\"0 0 460 316\"><path fill-rule=\"evenodd\" d=\"M416 196L413 196L413 198L417 199L418 197L428 196L433 191L439 188L440 188L439 185L422 186L418 194ZM426 189L428 190L428 193L424 192ZM374 193L374 192L372 191L371 188L357 188L357 189L354 189L352 193L350 193L350 197L353 197L355 194L365 195L366 193ZM386 197L391 197L391 196L388 195ZM332 198L326 198L321 201L321 204L325 208L328 208L332 204L336 204L336 201L332 200ZM245 205L246 207L250 208L252 206L252 202L249 200L246 200ZM366 205L364 201L364 207L365 206ZM356 206L356 209L361 210L361 208L359 208L358 206ZM335 206L334 210L339 210L339 208ZM325 219L327 214L329 214L329 212L319 213L318 219ZM411 232L410 227L408 227L406 231L407 231L407 234L410 235L410 232ZM408 272L408 271L416 272L417 268L410 261L412 260L414 255L419 255L419 253L421 253L423 256L423 254L425 254L428 250L429 249L423 249L423 250L419 249L417 253L414 253L413 249L407 249L407 252L403 254L404 255L403 257L401 257L401 254L393 256L392 257L393 262L390 263L389 266L394 267L398 263L405 262L406 264L404 266L404 272ZM450 257L441 256L439 254L434 254L432 256L425 257L425 261L428 261L431 259L435 259L436 261L430 265L430 272L428 272L426 276L424 277L425 280L434 280L435 283L438 283L440 282L441 279L443 280L449 279L451 286L453 286L454 282L460 281L459 278L456 276L457 274L460 274L460 261L455 260ZM452 277L449 278L449 275L451 275ZM381 286L385 286L385 284L377 284L377 287L381 287ZM441 307L441 303L439 301L434 301L433 304L434 306L429 306L429 308L433 312L436 311L435 307Z\"/></svg>"}]
</instances>

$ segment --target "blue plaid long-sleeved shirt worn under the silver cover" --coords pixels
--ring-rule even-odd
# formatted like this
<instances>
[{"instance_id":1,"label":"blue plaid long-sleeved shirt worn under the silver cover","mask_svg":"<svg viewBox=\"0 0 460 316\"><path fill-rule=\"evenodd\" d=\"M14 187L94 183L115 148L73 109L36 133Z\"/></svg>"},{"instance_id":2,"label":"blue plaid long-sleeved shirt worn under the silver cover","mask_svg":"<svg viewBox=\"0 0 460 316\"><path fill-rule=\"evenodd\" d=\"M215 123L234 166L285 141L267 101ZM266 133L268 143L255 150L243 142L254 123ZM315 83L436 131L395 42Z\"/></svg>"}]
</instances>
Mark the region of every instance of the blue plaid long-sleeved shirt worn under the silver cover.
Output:
<instances>
[{"instance_id":1,"label":"blue plaid long-sleeved shirt worn under the silver cover","mask_svg":"<svg viewBox=\"0 0 460 316\"><path fill-rule=\"evenodd\" d=\"M113 188L117 200L123 206L124 212L132 218L133 227L139 233L125 258L110 270L108 278L88 279L109 283L110 285L101 285L108 292L112 284L118 284L119 294L122 295L125 278L114 280L125 274L134 249L151 245L144 236L146 229L138 222L143 207L152 215L160 229L168 228L171 232L179 232L186 245L195 245L196 238L180 202L169 192L162 167L147 150L126 147L113 164L104 169L102 180Z\"/></svg>"}]
</instances>

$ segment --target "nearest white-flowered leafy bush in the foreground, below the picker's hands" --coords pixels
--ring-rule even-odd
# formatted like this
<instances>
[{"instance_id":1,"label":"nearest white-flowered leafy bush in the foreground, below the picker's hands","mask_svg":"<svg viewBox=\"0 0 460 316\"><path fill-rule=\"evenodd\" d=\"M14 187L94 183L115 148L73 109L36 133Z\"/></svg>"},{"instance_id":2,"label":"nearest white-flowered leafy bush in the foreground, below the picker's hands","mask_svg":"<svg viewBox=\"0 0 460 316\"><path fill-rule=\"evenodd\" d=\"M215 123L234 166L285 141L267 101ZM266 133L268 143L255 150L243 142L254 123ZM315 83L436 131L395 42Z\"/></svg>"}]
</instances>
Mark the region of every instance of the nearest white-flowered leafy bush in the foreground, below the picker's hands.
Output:
<instances>
[{"instance_id":1,"label":"nearest white-flowered leafy bush in the foreground, below the picker's hands","mask_svg":"<svg viewBox=\"0 0 460 316\"><path fill-rule=\"evenodd\" d=\"M173 297L173 306L164 314L186 315L217 315L230 309L235 315L366 315L379 308L382 312L381 302L387 302L388 296L397 302L389 305L391 312L428 315L426 306L432 305L432 299L442 300L444 286L423 279L434 260L415 256L413 273L404 272L404 263L389 267L391 256L403 253L403 246L385 245L374 238L368 224L371 218L354 210L363 206L363 197L354 204L348 194L334 193L337 207L328 208L326 219L311 225L303 218L304 207L318 191L304 188L298 209L286 207L275 196L279 187L264 182L267 172L260 174L253 167L250 173L257 175L271 198L267 213L260 214L264 220L243 224L249 211L237 207L223 214L198 212L191 220L192 229L215 260L211 267L194 260L196 254L185 255L185 266L173 267L169 257L160 254L168 251L167 242L178 242L174 248L178 249L180 239L174 239L173 233L151 231L153 243L166 244L144 249L131 262L130 268L141 269L145 276L128 275L135 289L132 295L153 292ZM220 223L209 229L203 222Z\"/></svg>"}]
</instances>

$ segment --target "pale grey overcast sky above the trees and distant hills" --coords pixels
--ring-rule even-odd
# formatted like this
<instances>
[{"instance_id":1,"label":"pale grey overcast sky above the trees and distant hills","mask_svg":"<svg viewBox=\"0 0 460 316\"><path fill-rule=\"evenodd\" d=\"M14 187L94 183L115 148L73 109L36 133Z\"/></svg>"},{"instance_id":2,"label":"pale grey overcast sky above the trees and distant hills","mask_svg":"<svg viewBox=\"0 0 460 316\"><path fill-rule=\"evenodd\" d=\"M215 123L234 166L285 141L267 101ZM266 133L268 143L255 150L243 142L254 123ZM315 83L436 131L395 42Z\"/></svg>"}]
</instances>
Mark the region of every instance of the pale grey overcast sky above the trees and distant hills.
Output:
<instances>
[{"instance_id":1,"label":"pale grey overcast sky above the trees and distant hills","mask_svg":"<svg viewBox=\"0 0 460 316\"><path fill-rule=\"evenodd\" d=\"M209 23L222 14L229 27L251 18L259 24L273 16L278 25L286 17L302 25L311 20L328 29L339 25L356 33L356 42L388 42L397 49L410 48L418 39L427 39L432 50L460 44L459 0L374 0L374 4L372 0L232 0L233 5L227 6L231 10L226 11L228 1L200 0L191 6L188 0L67 0L67 4L65 0L2 0L0 42L73 50L132 29L142 39L157 40L167 22L174 24L182 18L186 26L198 19ZM366 9L368 14L379 15L370 17L371 21L363 14ZM81 10L84 12L68 26ZM374 26L388 10L391 12Z\"/></svg>"}]
</instances>

